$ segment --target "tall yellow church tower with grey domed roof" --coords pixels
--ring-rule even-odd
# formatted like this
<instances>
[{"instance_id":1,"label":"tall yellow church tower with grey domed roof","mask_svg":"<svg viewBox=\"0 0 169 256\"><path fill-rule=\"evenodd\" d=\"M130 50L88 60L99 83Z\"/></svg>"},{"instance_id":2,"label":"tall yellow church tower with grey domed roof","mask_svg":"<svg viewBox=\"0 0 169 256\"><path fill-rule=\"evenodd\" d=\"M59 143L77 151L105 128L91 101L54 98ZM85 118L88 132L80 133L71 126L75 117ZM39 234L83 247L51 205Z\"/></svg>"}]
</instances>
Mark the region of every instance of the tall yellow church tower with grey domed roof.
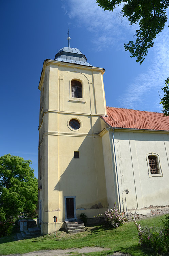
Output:
<instances>
[{"instance_id":1,"label":"tall yellow church tower with grey domed roof","mask_svg":"<svg viewBox=\"0 0 169 256\"><path fill-rule=\"evenodd\" d=\"M70 37L68 37L70 40ZM105 70L76 48L46 59L40 77L38 224L42 234L64 221L107 210L100 116L106 115Z\"/></svg>"}]
</instances>

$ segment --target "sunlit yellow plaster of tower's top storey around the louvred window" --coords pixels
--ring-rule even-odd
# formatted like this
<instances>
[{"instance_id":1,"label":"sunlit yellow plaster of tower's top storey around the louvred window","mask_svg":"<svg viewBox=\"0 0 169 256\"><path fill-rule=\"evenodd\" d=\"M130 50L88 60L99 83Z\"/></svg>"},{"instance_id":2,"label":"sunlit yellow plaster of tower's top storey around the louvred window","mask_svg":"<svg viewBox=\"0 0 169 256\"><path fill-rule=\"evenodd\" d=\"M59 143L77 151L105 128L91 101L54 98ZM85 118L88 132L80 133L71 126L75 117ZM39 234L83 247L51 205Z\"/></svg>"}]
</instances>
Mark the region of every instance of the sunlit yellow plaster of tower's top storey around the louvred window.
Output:
<instances>
[{"instance_id":1,"label":"sunlit yellow plaster of tower's top storey around the louvred window","mask_svg":"<svg viewBox=\"0 0 169 256\"><path fill-rule=\"evenodd\" d=\"M49 67L49 66L48 66ZM106 114L101 69L51 64L49 68L49 109L64 112ZM71 81L82 83L82 99L71 97ZM57 99L57 100L56 100ZM78 111L77 111L78 110Z\"/></svg>"}]
</instances>

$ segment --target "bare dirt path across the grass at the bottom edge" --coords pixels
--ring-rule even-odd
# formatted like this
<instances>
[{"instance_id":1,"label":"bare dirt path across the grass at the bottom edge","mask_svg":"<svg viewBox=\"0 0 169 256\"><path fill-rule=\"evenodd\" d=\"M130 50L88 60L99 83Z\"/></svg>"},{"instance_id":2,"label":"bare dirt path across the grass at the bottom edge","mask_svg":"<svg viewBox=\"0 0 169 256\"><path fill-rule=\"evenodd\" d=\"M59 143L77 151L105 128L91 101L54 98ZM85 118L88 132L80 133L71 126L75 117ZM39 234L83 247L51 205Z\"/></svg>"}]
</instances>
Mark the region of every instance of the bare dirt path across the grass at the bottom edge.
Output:
<instances>
[{"instance_id":1,"label":"bare dirt path across the grass at the bottom edge","mask_svg":"<svg viewBox=\"0 0 169 256\"><path fill-rule=\"evenodd\" d=\"M106 248L100 248L100 247L84 247L81 249L66 249L66 250L40 250L30 253L24 253L24 254L9 254L5 256L68 256L68 253L90 253L90 252L101 252L106 251L109 249ZM4 256L4 255L1 255ZM114 253L109 256L131 256L126 253Z\"/></svg>"}]
</instances>

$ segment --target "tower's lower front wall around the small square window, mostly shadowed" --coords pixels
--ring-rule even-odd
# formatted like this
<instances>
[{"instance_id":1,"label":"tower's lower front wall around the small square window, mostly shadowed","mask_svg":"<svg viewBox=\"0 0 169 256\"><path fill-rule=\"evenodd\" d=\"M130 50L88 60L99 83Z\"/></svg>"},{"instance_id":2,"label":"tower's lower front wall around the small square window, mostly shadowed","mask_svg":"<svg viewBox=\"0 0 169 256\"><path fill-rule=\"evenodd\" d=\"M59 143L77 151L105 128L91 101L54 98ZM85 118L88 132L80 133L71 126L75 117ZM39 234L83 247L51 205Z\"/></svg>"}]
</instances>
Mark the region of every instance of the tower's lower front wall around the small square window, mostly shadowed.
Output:
<instances>
[{"instance_id":1,"label":"tower's lower front wall around the small square window, mostly shadowed","mask_svg":"<svg viewBox=\"0 0 169 256\"><path fill-rule=\"evenodd\" d=\"M67 146L62 147L65 140ZM54 189L63 191L63 209L64 196L76 196L79 214L80 210L108 208L101 137L92 137L90 130L85 137L60 136L58 141L61 176ZM74 158L77 151L79 158Z\"/></svg>"}]
</instances>

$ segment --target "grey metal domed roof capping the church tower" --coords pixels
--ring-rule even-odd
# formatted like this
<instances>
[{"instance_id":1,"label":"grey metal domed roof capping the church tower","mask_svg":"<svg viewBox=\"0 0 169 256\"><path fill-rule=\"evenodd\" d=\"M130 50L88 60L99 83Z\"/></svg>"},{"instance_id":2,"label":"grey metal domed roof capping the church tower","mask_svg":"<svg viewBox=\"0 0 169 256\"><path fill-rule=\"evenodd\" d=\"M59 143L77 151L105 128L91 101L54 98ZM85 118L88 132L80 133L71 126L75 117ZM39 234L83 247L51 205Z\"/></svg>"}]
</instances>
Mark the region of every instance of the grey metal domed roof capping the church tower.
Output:
<instances>
[{"instance_id":1,"label":"grey metal domed roof capping the church tower","mask_svg":"<svg viewBox=\"0 0 169 256\"><path fill-rule=\"evenodd\" d=\"M92 66L86 61L87 58L84 54L81 53L81 51L79 51L77 48L71 47L64 47L60 49L55 56L55 60L85 66Z\"/></svg>"}]
</instances>

